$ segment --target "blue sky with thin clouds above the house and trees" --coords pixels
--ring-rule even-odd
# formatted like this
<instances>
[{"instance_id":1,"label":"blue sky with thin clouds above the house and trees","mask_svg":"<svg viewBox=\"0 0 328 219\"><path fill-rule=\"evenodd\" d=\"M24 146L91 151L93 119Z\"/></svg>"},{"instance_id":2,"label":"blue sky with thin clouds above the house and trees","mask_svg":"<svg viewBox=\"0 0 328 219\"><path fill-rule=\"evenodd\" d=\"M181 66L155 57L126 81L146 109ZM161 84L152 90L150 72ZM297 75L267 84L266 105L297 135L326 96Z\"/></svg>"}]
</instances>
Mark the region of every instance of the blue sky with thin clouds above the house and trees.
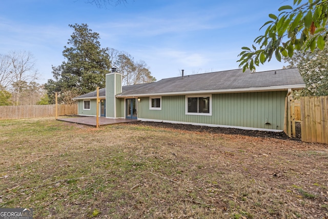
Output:
<instances>
[{"instance_id":1,"label":"blue sky with thin clouds above the house and trees","mask_svg":"<svg viewBox=\"0 0 328 219\"><path fill-rule=\"evenodd\" d=\"M237 69L242 46L251 46L259 28L288 0L127 0L97 8L88 0L4 0L0 7L0 53L30 51L39 83L52 78L51 66L66 61L62 52L73 30L88 24L101 47L126 51L145 61L157 80L185 74ZM257 71L280 69L275 60Z\"/></svg>"}]
</instances>

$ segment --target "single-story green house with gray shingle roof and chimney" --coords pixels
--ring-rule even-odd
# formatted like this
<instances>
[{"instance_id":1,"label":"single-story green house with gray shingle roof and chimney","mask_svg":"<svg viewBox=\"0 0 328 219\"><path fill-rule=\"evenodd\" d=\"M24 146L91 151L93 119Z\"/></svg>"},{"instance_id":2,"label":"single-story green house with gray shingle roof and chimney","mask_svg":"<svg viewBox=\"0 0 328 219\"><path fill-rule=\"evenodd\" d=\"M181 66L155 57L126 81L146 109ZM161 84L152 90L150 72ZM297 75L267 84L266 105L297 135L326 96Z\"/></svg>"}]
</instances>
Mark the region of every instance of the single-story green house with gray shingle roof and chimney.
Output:
<instances>
[{"instance_id":1,"label":"single-story green house with gray shingle roof and chimney","mask_svg":"<svg viewBox=\"0 0 328 219\"><path fill-rule=\"evenodd\" d=\"M140 121L281 131L285 97L305 87L297 68L263 72L241 69L183 75L122 86L118 72L99 90L99 115ZM74 99L78 114L96 115L96 91Z\"/></svg>"}]
</instances>

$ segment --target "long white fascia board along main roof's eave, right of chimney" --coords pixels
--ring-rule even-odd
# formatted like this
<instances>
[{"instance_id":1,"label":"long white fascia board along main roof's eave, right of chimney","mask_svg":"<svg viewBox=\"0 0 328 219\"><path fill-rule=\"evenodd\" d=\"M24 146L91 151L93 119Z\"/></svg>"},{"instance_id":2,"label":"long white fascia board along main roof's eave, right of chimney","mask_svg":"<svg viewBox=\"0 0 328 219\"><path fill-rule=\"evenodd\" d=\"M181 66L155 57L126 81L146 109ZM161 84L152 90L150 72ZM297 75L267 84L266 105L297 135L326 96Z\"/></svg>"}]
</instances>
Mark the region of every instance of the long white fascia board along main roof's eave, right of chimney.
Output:
<instances>
[{"instance_id":1,"label":"long white fascia board along main roof's eave, right of chimney","mask_svg":"<svg viewBox=\"0 0 328 219\"><path fill-rule=\"evenodd\" d=\"M181 91L181 92L167 92L167 93L142 93L133 95L116 95L118 98L126 97L141 97L141 96L170 96L170 95L190 95L190 94L208 94L208 93L242 93L242 92L263 92L263 91L281 91L288 89L302 89L305 85L284 85L272 87L258 87L258 88L238 88L238 89L224 89L224 90L200 90L200 91Z\"/></svg>"}]
</instances>

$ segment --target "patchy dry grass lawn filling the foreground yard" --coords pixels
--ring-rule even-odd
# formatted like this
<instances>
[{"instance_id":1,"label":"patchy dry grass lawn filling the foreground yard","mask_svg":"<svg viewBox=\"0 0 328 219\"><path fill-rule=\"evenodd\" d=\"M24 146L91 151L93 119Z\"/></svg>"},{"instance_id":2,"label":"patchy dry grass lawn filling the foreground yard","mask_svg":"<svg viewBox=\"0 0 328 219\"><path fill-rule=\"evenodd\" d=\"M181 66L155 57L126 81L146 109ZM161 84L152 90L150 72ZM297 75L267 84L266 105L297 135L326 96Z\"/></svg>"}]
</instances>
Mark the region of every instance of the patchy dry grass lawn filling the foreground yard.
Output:
<instances>
[{"instance_id":1,"label":"patchy dry grass lawn filling the foreground yard","mask_svg":"<svg viewBox=\"0 0 328 219\"><path fill-rule=\"evenodd\" d=\"M326 145L0 121L0 207L35 218L325 218Z\"/></svg>"}]
</instances>

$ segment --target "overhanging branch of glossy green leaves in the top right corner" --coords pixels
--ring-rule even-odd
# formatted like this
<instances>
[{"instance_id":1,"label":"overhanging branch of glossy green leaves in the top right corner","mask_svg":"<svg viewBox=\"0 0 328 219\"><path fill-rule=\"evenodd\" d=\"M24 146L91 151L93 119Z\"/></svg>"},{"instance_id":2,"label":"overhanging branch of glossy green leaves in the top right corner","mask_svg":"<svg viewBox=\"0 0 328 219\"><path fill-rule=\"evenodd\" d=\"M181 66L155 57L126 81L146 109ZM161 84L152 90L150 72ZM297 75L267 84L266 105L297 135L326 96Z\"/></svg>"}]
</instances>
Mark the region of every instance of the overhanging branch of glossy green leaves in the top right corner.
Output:
<instances>
[{"instance_id":1,"label":"overhanging branch of glossy green leaves in the top right corner","mask_svg":"<svg viewBox=\"0 0 328 219\"><path fill-rule=\"evenodd\" d=\"M239 67L253 70L260 63L270 62L273 54L281 61L282 56L292 57L294 50L324 49L328 34L328 1L294 0L293 3L294 8L281 6L279 15L269 14L271 19L260 28L267 27L264 35L254 40L258 47L242 47L237 61Z\"/></svg>"}]
</instances>

